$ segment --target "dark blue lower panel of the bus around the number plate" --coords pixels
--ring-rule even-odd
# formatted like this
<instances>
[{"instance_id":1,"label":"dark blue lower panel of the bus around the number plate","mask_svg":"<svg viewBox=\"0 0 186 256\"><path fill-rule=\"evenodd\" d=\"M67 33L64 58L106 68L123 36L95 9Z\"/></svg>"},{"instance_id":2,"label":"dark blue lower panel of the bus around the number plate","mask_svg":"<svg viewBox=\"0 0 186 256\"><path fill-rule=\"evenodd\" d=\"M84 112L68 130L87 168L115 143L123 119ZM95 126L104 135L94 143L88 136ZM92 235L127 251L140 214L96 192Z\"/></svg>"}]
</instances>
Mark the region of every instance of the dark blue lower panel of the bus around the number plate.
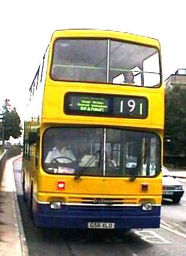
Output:
<instances>
[{"instance_id":1,"label":"dark blue lower panel of the bus around the number plate","mask_svg":"<svg viewBox=\"0 0 186 256\"><path fill-rule=\"evenodd\" d=\"M33 207L38 227L87 228L88 222L114 222L116 229L160 227L160 207L142 211L141 207L67 206L50 209L49 204Z\"/></svg>"}]
</instances>

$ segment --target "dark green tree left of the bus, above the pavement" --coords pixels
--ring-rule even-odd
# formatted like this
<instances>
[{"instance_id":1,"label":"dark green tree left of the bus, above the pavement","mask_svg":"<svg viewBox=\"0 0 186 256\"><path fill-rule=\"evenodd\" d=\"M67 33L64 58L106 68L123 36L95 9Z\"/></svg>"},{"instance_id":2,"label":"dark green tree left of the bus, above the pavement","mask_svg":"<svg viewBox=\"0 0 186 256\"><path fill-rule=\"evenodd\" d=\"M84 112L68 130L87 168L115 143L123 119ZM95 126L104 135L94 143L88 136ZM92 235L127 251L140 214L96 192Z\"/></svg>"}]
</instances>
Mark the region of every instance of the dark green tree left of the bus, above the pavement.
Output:
<instances>
[{"instance_id":1,"label":"dark green tree left of the bus, above the pavement","mask_svg":"<svg viewBox=\"0 0 186 256\"><path fill-rule=\"evenodd\" d=\"M22 134L21 120L15 108L11 109L9 99L5 100L2 107L1 140L8 140L11 136L19 138Z\"/></svg>"}]
</instances>

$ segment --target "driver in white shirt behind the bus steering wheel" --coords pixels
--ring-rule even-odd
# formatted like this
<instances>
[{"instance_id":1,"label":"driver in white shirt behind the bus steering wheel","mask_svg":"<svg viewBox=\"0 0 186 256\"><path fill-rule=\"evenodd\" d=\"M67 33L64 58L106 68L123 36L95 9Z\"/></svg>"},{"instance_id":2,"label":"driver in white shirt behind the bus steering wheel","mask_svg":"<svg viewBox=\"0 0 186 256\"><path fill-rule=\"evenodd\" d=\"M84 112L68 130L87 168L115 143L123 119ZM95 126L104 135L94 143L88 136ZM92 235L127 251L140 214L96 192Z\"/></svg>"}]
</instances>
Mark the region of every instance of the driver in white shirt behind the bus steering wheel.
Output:
<instances>
[{"instance_id":1,"label":"driver in white shirt behind the bus steering wheel","mask_svg":"<svg viewBox=\"0 0 186 256\"><path fill-rule=\"evenodd\" d=\"M70 148L67 147L67 142L65 141L65 138L63 138L63 141L61 141L61 139L58 137L55 138L55 147L52 149L52 151L48 152L45 163L51 163L52 160L56 157L60 157L58 159L58 162L65 164L69 164L70 162L76 160L73 152L70 150Z\"/></svg>"}]
</instances>

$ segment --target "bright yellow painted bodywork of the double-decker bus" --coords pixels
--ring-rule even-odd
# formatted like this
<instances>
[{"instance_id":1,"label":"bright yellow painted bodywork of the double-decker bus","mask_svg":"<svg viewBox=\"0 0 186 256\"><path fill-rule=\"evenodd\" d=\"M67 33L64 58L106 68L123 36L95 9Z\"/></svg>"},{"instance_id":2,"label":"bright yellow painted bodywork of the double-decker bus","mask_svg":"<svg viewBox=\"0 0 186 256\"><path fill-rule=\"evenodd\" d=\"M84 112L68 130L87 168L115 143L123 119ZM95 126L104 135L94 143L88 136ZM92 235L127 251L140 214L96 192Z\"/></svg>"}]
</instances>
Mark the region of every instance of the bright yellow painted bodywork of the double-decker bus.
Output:
<instances>
[{"instance_id":1,"label":"bright yellow painted bodywork of the double-decker bus","mask_svg":"<svg viewBox=\"0 0 186 256\"><path fill-rule=\"evenodd\" d=\"M114 38L121 41L135 42L137 44L154 46L160 49L157 40L144 36L132 35L114 31L100 31L94 29L69 29L54 32L49 44L48 67L46 69L46 82L42 101L42 115L33 117L32 125L40 129L40 138L46 128L52 125L104 125L105 127L133 128L143 131L153 131L160 135L163 144L164 131L164 88L142 88L133 86L89 84L80 82L53 81L50 78L50 64L52 62L53 44L56 38L86 37L86 38ZM146 119L89 117L80 115L66 115L63 111L63 101L67 92L90 92L112 95L137 95L148 99L148 117ZM34 122L34 120L37 120ZM162 148L163 152L163 148ZM38 166L35 164L35 145L31 146L31 158L23 159L23 171L27 177L29 189L33 187L33 195L38 202L60 200L65 203L93 202L94 198L111 198L119 204L140 205L147 201L161 204L161 172L157 177L130 178L113 177L81 177L75 179L74 175L47 174L42 169L41 162L42 141L40 139ZM58 181L65 181L63 190L56 188ZM148 184L148 191L141 191L141 184Z\"/></svg>"}]
</instances>

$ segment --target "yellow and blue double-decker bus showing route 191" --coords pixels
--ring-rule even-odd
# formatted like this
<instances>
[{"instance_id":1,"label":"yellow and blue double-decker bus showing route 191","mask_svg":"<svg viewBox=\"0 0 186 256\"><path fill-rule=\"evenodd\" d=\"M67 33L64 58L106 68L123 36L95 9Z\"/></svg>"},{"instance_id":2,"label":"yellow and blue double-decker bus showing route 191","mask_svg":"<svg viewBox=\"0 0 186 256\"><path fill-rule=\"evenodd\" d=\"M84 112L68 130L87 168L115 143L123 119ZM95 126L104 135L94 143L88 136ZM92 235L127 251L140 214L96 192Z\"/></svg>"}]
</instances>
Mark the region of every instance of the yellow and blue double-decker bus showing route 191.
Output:
<instances>
[{"instance_id":1,"label":"yellow and blue double-decker bus showing route 191","mask_svg":"<svg viewBox=\"0 0 186 256\"><path fill-rule=\"evenodd\" d=\"M156 39L55 31L25 119L23 197L35 225L158 228L163 131Z\"/></svg>"}]
</instances>

